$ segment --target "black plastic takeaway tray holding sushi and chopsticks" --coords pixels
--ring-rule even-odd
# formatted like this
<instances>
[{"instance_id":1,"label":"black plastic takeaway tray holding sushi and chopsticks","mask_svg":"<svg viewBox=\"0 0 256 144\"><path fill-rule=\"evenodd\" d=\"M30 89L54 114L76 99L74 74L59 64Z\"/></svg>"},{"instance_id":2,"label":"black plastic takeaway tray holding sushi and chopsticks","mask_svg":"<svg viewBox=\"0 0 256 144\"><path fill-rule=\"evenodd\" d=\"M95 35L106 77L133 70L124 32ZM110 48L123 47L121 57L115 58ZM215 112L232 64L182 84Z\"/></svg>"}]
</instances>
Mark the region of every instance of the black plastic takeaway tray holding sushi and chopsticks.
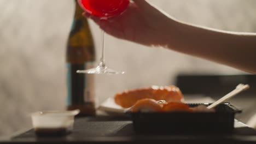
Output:
<instances>
[{"instance_id":1,"label":"black plastic takeaway tray holding sushi and chopsticks","mask_svg":"<svg viewBox=\"0 0 256 144\"><path fill-rule=\"evenodd\" d=\"M188 104L190 107L206 104ZM216 112L131 113L133 128L138 133L226 133L234 129L236 113L230 103L218 105Z\"/></svg>"}]
</instances>

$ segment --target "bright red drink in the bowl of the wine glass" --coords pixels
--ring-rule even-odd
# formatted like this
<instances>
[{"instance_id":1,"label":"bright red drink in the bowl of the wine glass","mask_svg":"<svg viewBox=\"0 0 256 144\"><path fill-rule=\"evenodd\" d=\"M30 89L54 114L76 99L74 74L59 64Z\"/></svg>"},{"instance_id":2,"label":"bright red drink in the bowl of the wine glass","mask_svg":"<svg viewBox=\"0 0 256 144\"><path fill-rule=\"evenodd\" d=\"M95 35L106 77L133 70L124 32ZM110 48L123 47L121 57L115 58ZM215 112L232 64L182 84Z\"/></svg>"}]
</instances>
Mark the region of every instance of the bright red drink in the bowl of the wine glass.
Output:
<instances>
[{"instance_id":1,"label":"bright red drink in the bowl of the wine glass","mask_svg":"<svg viewBox=\"0 0 256 144\"><path fill-rule=\"evenodd\" d=\"M89 14L108 18L123 13L130 0L78 0L78 3Z\"/></svg>"}]
</instances>

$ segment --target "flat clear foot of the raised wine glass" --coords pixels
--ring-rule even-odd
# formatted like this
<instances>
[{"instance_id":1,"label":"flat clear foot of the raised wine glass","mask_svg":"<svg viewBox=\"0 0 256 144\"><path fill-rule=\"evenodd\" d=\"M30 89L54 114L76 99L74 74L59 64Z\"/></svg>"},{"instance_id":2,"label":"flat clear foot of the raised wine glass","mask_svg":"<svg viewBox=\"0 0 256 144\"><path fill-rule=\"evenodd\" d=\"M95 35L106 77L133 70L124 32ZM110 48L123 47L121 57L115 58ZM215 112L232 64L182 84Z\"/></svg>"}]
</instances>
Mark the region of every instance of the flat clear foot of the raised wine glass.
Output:
<instances>
[{"instance_id":1,"label":"flat clear foot of the raised wine glass","mask_svg":"<svg viewBox=\"0 0 256 144\"><path fill-rule=\"evenodd\" d=\"M106 66L98 66L96 68L88 69L88 70L77 70L77 73L85 73L85 74L124 74L124 71L116 71L110 69Z\"/></svg>"}]
</instances>

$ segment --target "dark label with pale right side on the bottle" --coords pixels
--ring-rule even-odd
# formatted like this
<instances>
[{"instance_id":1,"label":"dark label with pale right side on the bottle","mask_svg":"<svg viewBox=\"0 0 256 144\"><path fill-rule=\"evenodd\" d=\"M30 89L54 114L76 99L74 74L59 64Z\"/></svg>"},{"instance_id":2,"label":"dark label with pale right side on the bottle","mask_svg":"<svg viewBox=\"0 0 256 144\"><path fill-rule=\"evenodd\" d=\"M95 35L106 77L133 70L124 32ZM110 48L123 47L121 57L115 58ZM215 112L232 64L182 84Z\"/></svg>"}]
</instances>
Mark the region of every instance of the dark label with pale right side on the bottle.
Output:
<instances>
[{"instance_id":1,"label":"dark label with pale right side on the bottle","mask_svg":"<svg viewBox=\"0 0 256 144\"><path fill-rule=\"evenodd\" d=\"M94 62L67 63L67 105L86 105L95 102L94 75L77 73L77 70L93 67Z\"/></svg>"}]
</instances>

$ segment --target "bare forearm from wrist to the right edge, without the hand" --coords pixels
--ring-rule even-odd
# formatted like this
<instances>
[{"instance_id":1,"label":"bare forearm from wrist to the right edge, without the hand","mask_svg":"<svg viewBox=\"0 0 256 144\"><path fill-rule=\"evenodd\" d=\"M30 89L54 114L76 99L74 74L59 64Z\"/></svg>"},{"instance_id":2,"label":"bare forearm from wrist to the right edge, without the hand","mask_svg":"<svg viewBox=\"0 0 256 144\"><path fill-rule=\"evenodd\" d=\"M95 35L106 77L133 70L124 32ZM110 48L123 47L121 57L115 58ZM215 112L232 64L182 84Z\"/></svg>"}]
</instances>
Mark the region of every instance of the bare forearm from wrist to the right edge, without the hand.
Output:
<instances>
[{"instance_id":1,"label":"bare forearm from wrist to the right edge, without the hand","mask_svg":"<svg viewBox=\"0 0 256 144\"><path fill-rule=\"evenodd\" d=\"M169 49L256 73L256 34L172 23Z\"/></svg>"}]
</instances>

